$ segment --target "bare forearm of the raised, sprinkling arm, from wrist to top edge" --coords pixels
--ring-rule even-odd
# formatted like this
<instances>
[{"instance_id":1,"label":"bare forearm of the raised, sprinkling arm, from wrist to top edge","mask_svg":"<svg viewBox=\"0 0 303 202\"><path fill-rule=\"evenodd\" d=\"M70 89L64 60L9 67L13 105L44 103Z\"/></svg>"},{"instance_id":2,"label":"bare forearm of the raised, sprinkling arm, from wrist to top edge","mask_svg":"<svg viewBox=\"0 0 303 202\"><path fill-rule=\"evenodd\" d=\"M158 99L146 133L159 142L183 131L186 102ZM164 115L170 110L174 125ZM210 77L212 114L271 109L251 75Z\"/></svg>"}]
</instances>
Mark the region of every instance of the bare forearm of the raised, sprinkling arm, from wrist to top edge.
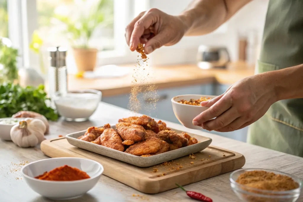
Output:
<instances>
[{"instance_id":1,"label":"bare forearm of the raised, sprinkling arm, from wrist to top edge","mask_svg":"<svg viewBox=\"0 0 303 202\"><path fill-rule=\"evenodd\" d=\"M194 0L180 15L187 25L185 35L204 35L214 31L250 1Z\"/></svg>"}]
</instances>

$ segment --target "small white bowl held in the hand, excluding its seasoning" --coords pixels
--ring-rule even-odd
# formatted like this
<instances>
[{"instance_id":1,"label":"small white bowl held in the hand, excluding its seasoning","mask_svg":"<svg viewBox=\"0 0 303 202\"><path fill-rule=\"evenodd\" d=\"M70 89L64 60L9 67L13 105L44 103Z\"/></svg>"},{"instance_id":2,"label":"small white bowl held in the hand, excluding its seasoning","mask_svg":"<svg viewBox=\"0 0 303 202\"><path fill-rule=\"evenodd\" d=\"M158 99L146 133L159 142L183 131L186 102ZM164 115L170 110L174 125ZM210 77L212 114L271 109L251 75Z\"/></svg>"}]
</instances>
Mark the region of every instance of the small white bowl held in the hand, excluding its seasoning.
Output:
<instances>
[{"instance_id":1,"label":"small white bowl held in the hand, excluding its seasoning","mask_svg":"<svg viewBox=\"0 0 303 202\"><path fill-rule=\"evenodd\" d=\"M203 129L200 126L195 126L192 124L192 120L201 112L207 110L209 107L202 107L202 106L195 106L189 104L181 104L178 103L180 100L187 100L190 99L199 99L199 98L215 98L215 95L178 95L176 97L171 98L172 109L177 117L178 121L187 128L201 130Z\"/></svg>"}]
</instances>

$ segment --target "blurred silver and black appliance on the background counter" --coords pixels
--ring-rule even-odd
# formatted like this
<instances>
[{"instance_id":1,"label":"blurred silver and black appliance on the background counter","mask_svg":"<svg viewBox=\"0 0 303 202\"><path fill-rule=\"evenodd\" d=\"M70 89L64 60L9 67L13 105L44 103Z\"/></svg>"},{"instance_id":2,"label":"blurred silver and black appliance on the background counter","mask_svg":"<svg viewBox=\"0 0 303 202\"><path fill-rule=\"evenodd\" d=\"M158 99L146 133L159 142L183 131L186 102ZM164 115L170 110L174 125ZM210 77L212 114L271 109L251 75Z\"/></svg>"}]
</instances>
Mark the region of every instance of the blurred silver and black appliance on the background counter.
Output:
<instances>
[{"instance_id":1,"label":"blurred silver and black appliance on the background counter","mask_svg":"<svg viewBox=\"0 0 303 202\"><path fill-rule=\"evenodd\" d=\"M197 65L201 69L226 68L230 61L227 48L200 45L197 54Z\"/></svg>"}]
</instances>

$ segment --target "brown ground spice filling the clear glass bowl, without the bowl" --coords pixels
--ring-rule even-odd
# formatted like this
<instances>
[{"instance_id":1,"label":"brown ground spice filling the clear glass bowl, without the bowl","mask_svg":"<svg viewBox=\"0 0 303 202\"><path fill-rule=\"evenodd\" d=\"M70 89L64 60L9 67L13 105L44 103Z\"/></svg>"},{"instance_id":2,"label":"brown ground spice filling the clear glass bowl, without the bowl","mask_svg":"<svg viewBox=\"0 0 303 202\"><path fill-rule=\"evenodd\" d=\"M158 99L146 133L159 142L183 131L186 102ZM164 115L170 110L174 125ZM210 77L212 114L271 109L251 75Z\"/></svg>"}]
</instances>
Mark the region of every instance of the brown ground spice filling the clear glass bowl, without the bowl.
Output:
<instances>
[{"instance_id":1,"label":"brown ground spice filling the clear glass bowl, without the bowl","mask_svg":"<svg viewBox=\"0 0 303 202\"><path fill-rule=\"evenodd\" d=\"M257 170L240 174L236 182L248 187L271 191L287 191L299 187L299 184L291 177Z\"/></svg>"}]
</instances>

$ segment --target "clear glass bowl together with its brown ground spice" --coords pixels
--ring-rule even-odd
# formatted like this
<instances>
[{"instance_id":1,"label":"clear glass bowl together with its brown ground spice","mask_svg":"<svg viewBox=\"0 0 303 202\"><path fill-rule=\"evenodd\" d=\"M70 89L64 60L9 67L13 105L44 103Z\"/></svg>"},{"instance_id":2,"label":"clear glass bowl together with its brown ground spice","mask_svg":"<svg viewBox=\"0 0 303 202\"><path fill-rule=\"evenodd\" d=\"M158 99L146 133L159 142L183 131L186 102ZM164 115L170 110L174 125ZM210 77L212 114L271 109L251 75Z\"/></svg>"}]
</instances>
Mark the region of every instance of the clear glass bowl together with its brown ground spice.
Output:
<instances>
[{"instance_id":1,"label":"clear glass bowl together with its brown ground spice","mask_svg":"<svg viewBox=\"0 0 303 202\"><path fill-rule=\"evenodd\" d=\"M298 177L257 168L232 172L230 184L241 200L249 202L294 202L302 188Z\"/></svg>"}]
</instances>

